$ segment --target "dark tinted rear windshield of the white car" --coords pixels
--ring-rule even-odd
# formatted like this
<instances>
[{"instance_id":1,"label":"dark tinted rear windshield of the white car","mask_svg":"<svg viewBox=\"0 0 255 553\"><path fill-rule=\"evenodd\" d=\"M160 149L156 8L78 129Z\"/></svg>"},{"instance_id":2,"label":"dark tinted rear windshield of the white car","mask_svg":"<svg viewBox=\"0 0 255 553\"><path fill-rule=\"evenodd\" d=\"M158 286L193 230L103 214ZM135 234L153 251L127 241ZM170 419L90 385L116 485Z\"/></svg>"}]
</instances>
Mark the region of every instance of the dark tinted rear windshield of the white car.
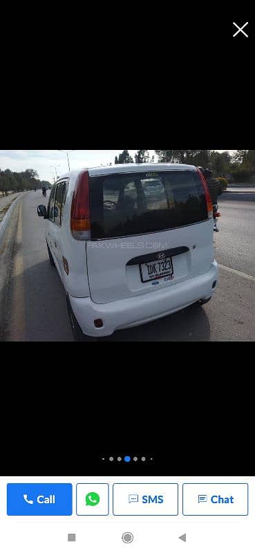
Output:
<instances>
[{"instance_id":1,"label":"dark tinted rear windshield of the white car","mask_svg":"<svg viewBox=\"0 0 255 553\"><path fill-rule=\"evenodd\" d=\"M197 171L160 171L90 178L91 238L117 238L207 219Z\"/></svg>"}]
</instances>

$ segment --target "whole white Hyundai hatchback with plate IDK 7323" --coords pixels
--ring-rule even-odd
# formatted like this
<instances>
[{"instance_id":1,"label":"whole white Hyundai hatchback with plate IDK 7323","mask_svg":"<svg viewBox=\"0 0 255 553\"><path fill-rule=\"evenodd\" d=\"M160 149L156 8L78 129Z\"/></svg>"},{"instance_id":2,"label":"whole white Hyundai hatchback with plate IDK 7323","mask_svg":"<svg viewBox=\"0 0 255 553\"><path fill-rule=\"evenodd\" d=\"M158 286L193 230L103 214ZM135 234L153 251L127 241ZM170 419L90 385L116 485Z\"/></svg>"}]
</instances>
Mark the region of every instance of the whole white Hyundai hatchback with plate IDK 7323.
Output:
<instances>
[{"instance_id":1,"label":"whole white Hyundai hatchback with plate IDK 7323","mask_svg":"<svg viewBox=\"0 0 255 553\"><path fill-rule=\"evenodd\" d=\"M46 219L75 339L206 303L216 290L211 197L197 167L71 171L53 186L48 209L37 212Z\"/></svg>"}]
</instances>

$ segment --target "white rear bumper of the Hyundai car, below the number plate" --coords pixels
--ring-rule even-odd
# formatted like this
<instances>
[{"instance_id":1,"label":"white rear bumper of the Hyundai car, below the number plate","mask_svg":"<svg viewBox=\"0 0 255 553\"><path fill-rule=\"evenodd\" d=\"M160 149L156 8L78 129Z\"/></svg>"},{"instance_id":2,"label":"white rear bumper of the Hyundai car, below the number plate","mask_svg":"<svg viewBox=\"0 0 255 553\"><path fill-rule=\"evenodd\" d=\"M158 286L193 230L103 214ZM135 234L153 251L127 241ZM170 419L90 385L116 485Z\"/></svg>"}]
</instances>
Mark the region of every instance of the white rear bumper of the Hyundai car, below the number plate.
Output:
<instances>
[{"instance_id":1,"label":"white rear bumper of the Hyundai car, below the number plate","mask_svg":"<svg viewBox=\"0 0 255 553\"><path fill-rule=\"evenodd\" d=\"M69 299L84 334L110 336L115 330L149 323L190 306L199 299L208 299L216 290L216 287L212 288L215 281L218 281L218 263L214 260L206 274L149 294L110 303L94 303L91 298L72 296ZM95 328L95 319L102 319L104 326Z\"/></svg>"}]
</instances>

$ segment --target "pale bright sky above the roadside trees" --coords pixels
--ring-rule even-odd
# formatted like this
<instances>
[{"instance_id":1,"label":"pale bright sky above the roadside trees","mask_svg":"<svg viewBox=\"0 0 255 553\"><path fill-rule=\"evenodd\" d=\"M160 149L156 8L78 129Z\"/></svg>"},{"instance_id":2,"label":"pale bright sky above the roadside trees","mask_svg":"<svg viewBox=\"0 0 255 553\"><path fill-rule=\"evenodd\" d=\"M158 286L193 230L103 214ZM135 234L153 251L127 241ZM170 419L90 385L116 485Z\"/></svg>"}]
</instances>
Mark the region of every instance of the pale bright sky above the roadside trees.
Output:
<instances>
[{"instance_id":1,"label":"pale bright sky above the roadside trees","mask_svg":"<svg viewBox=\"0 0 255 553\"><path fill-rule=\"evenodd\" d=\"M123 150L66 150L70 160L70 169L82 169L83 167L97 167L99 165L114 164L115 156L119 156ZM229 151L233 150L216 150ZM129 150L134 157L137 150ZM149 150L151 156L154 150ZM157 156L155 156L157 161ZM26 171L35 169L40 180L55 181L55 176L61 176L68 171L66 153L60 150L0 150L0 169L11 171Z\"/></svg>"}]
</instances>

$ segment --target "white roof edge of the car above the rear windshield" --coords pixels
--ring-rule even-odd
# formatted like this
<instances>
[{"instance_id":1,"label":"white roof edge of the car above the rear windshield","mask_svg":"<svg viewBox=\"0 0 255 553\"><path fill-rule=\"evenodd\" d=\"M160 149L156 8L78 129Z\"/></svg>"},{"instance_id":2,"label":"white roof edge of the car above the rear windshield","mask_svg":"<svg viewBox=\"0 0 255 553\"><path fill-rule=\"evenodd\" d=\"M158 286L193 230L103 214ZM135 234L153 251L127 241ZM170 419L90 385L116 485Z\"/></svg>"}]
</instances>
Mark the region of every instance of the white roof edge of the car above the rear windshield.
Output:
<instances>
[{"instance_id":1,"label":"white roof edge of the car above the rear windshield","mask_svg":"<svg viewBox=\"0 0 255 553\"><path fill-rule=\"evenodd\" d=\"M135 173L135 172L153 172L159 173L160 171L196 171L194 165L185 165L181 163L126 163L116 165L106 165L104 167L84 167L83 169L77 169L76 171L70 171L59 177L57 180L63 180L64 178L77 178L77 176L83 171L88 171L89 176L100 175L114 175L120 173Z\"/></svg>"}]
</instances>

